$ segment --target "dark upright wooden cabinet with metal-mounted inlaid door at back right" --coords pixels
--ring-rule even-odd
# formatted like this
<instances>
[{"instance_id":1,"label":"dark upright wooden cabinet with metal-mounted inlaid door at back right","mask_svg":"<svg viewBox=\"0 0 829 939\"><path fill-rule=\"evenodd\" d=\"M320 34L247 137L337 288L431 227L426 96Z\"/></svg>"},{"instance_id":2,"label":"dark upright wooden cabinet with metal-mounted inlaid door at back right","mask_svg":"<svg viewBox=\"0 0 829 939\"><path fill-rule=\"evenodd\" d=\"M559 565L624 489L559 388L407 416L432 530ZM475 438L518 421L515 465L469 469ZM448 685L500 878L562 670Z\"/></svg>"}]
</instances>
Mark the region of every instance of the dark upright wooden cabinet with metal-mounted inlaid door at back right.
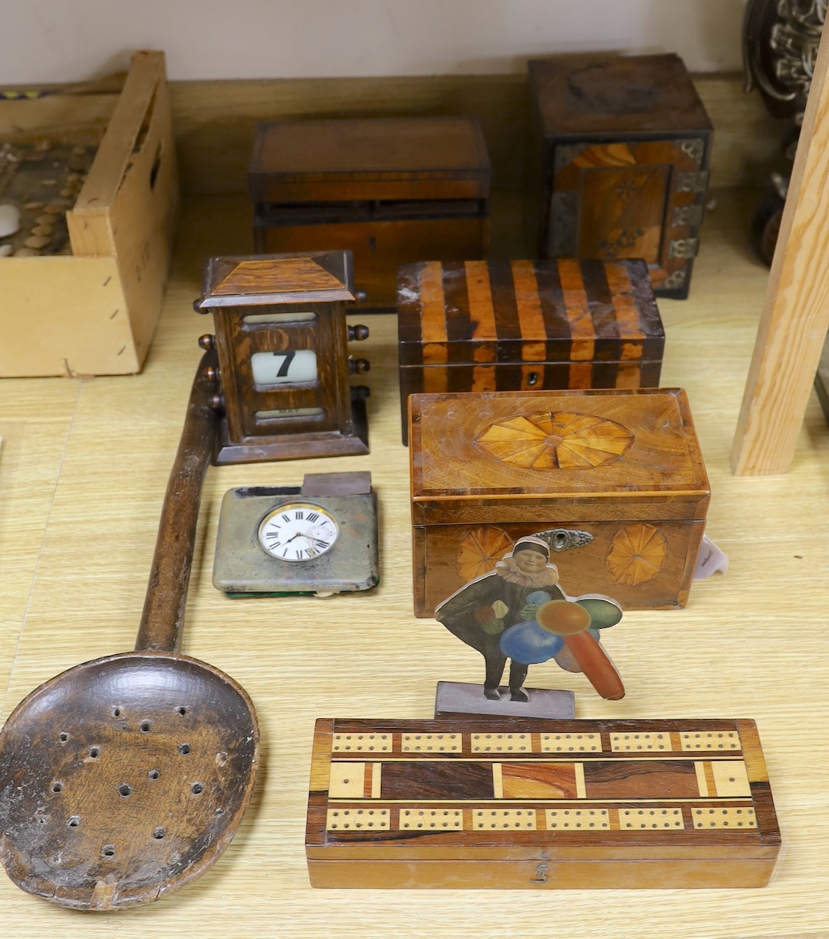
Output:
<instances>
[{"instance_id":1,"label":"dark upright wooden cabinet with metal-mounted inlaid door at back right","mask_svg":"<svg viewBox=\"0 0 829 939\"><path fill-rule=\"evenodd\" d=\"M528 237L540 257L641 257L688 296L712 124L678 55L529 63Z\"/></svg>"}]
</instances>

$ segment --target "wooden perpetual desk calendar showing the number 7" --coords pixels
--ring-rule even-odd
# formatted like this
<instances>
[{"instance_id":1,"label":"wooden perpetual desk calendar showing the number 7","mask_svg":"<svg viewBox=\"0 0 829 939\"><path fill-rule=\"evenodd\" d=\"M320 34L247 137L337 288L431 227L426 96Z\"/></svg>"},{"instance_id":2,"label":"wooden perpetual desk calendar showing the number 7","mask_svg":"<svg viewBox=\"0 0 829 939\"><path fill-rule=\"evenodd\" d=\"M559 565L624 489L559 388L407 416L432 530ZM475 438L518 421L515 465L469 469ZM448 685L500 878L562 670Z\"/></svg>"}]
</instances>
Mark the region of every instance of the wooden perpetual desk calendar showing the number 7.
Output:
<instances>
[{"instance_id":1,"label":"wooden perpetual desk calendar showing the number 7","mask_svg":"<svg viewBox=\"0 0 829 939\"><path fill-rule=\"evenodd\" d=\"M216 463L368 453L368 388L349 386L349 375L369 367L348 352L349 341L368 337L367 327L346 324L353 300L348 252L208 261L195 307L213 315L216 331L199 340L219 354L225 419ZM254 357L269 354L280 367L261 383ZM301 356L310 356L313 375L292 380Z\"/></svg>"}]
</instances>

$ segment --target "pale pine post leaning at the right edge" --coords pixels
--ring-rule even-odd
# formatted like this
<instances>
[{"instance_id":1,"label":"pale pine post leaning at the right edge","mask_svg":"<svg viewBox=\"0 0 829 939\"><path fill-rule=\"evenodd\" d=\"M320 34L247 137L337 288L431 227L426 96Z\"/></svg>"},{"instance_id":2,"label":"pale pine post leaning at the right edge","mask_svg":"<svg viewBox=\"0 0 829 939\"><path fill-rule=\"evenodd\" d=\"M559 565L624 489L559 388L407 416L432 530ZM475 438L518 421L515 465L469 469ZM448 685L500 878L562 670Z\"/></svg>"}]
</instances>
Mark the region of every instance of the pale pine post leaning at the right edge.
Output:
<instances>
[{"instance_id":1,"label":"pale pine post leaning at the right edge","mask_svg":"<svg viewBox=\"0 0 829 939\"><path fill-rule=\"evenodd\" d=\"M731 450L737 475L787 472L829 328L829 39L821 39Z\"/></svg>"}]
</instances>

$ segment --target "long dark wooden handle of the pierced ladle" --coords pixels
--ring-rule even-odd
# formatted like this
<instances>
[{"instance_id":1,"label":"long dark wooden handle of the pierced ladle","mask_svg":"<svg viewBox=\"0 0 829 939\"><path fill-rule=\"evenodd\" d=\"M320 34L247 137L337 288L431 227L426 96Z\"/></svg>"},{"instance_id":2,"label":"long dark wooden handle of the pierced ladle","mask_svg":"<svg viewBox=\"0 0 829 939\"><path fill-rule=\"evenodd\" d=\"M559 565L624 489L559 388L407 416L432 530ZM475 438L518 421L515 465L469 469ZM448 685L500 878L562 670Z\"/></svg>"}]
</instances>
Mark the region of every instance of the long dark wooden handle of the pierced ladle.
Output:
<instances>
[{"instance_id":1,"label":"long dark wooden handle of the pierced ladle","mask_svg":"<svg viewBox=\"0 0 829 939\"><path fill-rule=\"evenodd\" d=\"M216 367L215 351L206 352L193 381L179 452L164 495L136 652L180 650L201 486L219 426L211 400L216 393Z\"/></svg>"}]
</instances>

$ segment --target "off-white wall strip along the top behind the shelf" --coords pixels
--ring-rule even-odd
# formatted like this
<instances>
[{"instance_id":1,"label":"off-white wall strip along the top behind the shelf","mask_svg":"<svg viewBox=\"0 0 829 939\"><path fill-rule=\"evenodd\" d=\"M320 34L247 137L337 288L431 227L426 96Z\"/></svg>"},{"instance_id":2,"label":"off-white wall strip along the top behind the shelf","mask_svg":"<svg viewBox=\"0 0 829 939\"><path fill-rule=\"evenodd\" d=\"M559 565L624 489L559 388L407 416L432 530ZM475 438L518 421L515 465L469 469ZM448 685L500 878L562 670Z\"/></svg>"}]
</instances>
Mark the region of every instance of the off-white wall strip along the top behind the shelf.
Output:
<instances>
[{"instance_id":1,"label":"off-white wall strip along the top behind the shelf","mask_svg":"<svg viewBox=\"0 0 829 939\"><path fill-rule=\"evenodd\" d=\"M523 71L677 52L739 69L745 0L0 0L0 84L83 80L163 49L172 79Z\"/></svg>"}]
</instances>

